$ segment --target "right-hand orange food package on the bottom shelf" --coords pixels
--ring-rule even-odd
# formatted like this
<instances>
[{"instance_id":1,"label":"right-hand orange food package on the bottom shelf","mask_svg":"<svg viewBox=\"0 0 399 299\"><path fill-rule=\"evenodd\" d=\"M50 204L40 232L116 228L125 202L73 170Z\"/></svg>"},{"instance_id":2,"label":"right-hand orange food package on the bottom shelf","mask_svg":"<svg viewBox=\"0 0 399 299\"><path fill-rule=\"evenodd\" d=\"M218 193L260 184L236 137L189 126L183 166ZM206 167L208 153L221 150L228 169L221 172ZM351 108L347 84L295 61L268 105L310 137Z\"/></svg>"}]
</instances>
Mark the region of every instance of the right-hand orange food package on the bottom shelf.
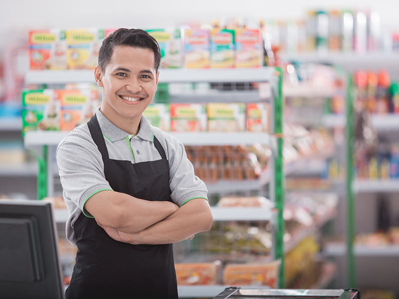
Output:
<instances>
[{"instance_id":1,"label":"right-hand orange food package on the bottom shelf","mask_svg":"<svg viewBox=\"0 0 399 299\"><path fill-rule=\"evenodd\" d=\"M260 264L230 264L224 267L223 284L278 288L280 261Z\"/></svg>"}]
</instances>

